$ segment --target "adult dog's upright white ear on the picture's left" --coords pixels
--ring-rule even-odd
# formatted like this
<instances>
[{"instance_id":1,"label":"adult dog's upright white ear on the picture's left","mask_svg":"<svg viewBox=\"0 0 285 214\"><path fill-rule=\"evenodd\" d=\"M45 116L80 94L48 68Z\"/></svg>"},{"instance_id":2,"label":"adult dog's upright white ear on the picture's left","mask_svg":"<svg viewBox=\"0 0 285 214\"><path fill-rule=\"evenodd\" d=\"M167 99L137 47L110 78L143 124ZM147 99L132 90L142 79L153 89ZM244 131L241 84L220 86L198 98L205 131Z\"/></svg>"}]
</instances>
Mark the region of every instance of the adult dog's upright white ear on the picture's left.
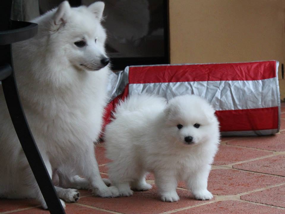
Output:
<instances>
[{"instance_id":1,"label":"adult dog's upright white ear on the picture's left","mask_svg":"<svg viewBox=\"0 0 285 214\"><path fill-rule=\"evenodd\" d=\"M69 13L70 13L70 5L68 1L62 2L58 6L56 13L53 15L53 20L51 23L53 30L58 30L59 28L65 25Z\"/></svg>"}]
</instances>

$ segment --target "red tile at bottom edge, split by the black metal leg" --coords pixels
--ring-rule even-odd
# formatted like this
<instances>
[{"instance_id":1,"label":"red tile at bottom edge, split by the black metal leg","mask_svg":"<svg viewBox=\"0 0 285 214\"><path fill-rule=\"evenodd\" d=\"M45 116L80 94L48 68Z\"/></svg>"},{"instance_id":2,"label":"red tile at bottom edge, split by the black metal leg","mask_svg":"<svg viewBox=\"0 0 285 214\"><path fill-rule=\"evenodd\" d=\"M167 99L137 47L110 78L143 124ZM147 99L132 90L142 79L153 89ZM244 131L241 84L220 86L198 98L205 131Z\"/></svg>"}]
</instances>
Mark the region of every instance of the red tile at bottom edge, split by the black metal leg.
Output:
<instances>
[{"instance_id":1,"label":"red tile at bottom edge, split by the black metal leg","mask_svg":"<svg viewBox=\"0 0 285 214\"><path fill-rule=\"evenodd\" d=\"M41 208L34 208L34 209L29 209L29 210L21 210L15 213L19 213L19 214L48 214L50 213L48 210L42 210ZM65 209L65 213L66 214L110 214L109 212L104 212L101 210L96 210L96 209L92 209L89 207L83 207L80 205L76 205L76 204L67 204L66 203L66 209Z\"/></svg>"}]
</instances>

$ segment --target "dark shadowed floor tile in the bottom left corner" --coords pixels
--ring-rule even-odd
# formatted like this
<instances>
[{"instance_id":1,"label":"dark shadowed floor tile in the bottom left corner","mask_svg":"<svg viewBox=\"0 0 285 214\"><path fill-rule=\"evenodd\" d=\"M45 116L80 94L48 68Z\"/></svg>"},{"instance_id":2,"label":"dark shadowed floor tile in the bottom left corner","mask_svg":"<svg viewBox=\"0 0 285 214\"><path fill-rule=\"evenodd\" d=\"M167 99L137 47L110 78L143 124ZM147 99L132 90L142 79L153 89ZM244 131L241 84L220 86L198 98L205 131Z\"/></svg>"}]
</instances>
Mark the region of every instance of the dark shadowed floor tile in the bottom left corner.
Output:
<instances>
[{"instance_id":1,"label":"dark shadowed floor tile in the bottom left corner","mask_svg":"<svg viewBox=\"0 0 285 214\"><path fill-rule=\"evenodd\" d=\"M35 199L0 199L0 212L37 206L39 202Z\"/></svg>"}]
</instances>

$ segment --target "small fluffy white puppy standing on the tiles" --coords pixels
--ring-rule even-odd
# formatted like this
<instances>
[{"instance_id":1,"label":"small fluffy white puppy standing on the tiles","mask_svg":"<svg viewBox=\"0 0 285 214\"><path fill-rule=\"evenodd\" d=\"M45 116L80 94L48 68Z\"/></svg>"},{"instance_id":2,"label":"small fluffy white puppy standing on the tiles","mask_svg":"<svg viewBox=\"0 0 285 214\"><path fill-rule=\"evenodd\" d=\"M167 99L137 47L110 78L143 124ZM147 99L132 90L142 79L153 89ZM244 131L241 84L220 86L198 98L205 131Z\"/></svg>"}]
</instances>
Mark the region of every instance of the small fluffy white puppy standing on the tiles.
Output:
<instances>
[{"instance_id":1,"label":"small fluffy white puppy standing on the tiles","mask_svg":"<svg viewBox=\"0 0 285 214\"><path fill-rule=\"evenodd\" d=\"M207 182L220 138L214 112L195 95L177 96L168 104L146 94L121 102L105 130L109 177L120 195L151 189L145 175L152 172L162 201L179 200L179 180L196 199L212 199Z\"/></svg>"}]
</instances>

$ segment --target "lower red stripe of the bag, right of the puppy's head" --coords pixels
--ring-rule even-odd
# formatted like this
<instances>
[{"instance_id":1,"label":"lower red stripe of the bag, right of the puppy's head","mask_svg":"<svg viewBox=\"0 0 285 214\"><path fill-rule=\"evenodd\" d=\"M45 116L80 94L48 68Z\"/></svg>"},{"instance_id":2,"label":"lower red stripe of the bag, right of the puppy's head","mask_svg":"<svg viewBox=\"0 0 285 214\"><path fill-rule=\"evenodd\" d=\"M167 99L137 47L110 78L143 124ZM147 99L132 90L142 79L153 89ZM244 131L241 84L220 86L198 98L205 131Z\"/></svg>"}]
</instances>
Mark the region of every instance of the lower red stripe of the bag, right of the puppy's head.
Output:
<instances>
[{"instance_id":1,"label":"lower red stripe of the bag, right of the puppy's head","mask_svg":"<svg viewBox=\"0 0 285 214\"><path fill-rule=\"evenodd\" d=\"M221 131L251 131L278 128L278 107L216 111Z\"/></svg>"}]
</instances>

